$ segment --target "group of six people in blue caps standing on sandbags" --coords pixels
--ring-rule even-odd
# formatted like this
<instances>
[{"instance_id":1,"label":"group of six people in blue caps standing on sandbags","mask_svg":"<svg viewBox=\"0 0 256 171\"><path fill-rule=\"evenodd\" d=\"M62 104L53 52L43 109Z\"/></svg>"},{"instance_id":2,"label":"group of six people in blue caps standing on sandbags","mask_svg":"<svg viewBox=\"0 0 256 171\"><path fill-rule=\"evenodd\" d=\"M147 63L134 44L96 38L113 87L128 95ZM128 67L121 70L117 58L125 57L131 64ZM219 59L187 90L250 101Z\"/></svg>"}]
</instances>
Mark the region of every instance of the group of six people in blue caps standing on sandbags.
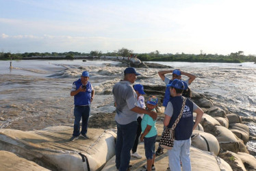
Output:
<instances>
[{"instance_id":1,"label":"group of six people in blue caps standing on sandbags","mask_svg":"<svg viewBox=\"0 0 256 171\"><path fill-rule=\"evenodd\" d=\"M168 79L165 75L172 73L172 79ZM131 156L141 158L137 151L139 139L144 142L144 150L147 163L145 170L155 170L155 155L161 155L163 150L157 148L155 152L155 140L157 137L157 129L155 122L157 113L158 98L149 96L144 101L144 88L140 84L135 84L137 76L135 68L129 67L124 70L123 80L116 83L112 89L114 94L114 105L116 107L115 121L117 125L116 137L116 168L120 171L126 171L131 168L129 161ZM188 85L196 78L194 75L185 73L181 70L163 70L158 72L159 77L166 84L166 92L164 96L163 106L166 107L164 114L164 127L172 127L178 118L181 105L183 103L182 96L190 97L190 89ZM181 81L181 75L188 77L188 80ZM80 135L85 139L88 127L88 118L90 115L90 103L94 98L94 89L88 81L89 73L84 71L81 79L73 83L71 96L74 96L74 131L71 141L77 139ZM172 150L168 150L169 168L172 171L191 170L190 164L190 136L192 131L201 121L203 110L193 103L190 98L185 98L185 107L182 111L181 119L175 128L175 142ZM195 112L196 120L193 122L193 112ZM80 132L79 122L82 118L82 127Z\"/></svg>"}]
</instances>

